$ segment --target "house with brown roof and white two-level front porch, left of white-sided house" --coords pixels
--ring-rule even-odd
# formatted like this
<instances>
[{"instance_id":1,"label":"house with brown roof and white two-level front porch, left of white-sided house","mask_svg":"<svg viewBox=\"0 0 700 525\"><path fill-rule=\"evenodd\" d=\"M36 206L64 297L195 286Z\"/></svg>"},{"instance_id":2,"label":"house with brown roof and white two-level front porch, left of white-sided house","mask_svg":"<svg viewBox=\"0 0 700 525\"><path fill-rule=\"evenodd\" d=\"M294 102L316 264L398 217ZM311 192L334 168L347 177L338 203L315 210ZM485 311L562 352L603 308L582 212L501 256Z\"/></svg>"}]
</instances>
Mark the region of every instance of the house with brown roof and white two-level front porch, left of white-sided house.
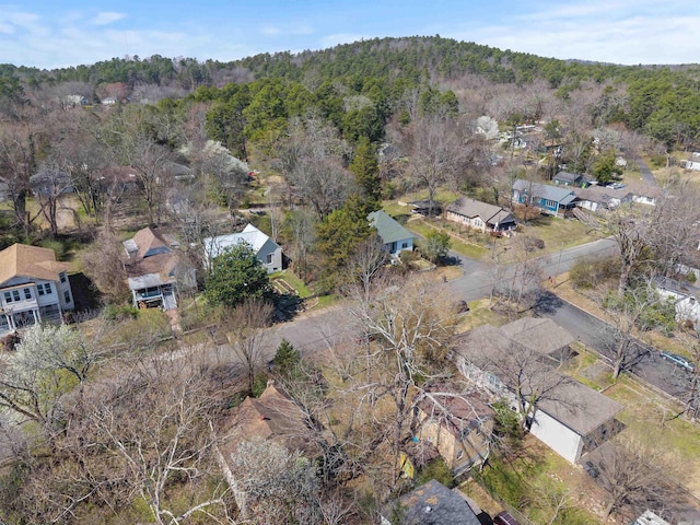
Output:
<instances>
[{"instance_id":1,"label":"house with brown roof and white two-level front porch, left of white-sided house","mask_svg":"<svg viewBox=\"0 0 700 525\"><path fill-rule=\"evenodd\" d=\"M173 249L176 243L156 230L144 228L122 244L127 255L124 267L133 306L164 311L177 308L175 292L178 278L192 285L194 271L180 264L178 254Z\"/></svg>"}]
</instances>

